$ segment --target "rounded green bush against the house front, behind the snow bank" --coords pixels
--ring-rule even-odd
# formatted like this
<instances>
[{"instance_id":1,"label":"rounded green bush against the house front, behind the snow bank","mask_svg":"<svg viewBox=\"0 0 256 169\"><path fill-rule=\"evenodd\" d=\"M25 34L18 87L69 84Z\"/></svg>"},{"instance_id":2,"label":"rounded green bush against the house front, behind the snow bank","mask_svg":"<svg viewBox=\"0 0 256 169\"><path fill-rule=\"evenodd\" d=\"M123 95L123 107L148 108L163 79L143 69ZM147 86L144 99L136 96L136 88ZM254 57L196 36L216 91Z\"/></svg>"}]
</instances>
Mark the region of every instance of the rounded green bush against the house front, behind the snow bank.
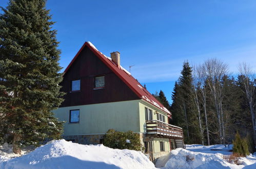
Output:
<instances>
[{"instance_id":1,"label":"rounded green bush against the house front, behind the snow bank","mask_svg":"<svg viewBox=\"0 0 256 169\"><path fill-rule=\"evenodd\" d=\"M130 143L126 142L127 139L130 140ZM129 149L136 151L142 151L143 147L138 133L132 131L117 132L113 129L108 130L103 137L103 145L112 149Z\"/></svg>"}]
</instances>

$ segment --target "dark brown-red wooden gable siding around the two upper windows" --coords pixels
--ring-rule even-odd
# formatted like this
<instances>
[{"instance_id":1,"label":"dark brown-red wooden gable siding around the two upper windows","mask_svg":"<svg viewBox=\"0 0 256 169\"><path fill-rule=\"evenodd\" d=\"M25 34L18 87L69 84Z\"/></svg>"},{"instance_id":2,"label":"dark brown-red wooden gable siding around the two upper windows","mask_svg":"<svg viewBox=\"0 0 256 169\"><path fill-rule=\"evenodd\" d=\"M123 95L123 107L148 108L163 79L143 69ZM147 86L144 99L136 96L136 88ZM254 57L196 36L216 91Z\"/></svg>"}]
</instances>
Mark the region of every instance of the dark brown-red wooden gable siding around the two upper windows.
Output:
<instances>
[{"instance_id":1,"label":"dark brown-red wooden gable siding around the two upper windows","mask_svg":"<svg viewBox=\"0 0 256 169\"><path fill-rule=\"evenodd\" d=\"M93 90L94 77L105 76L105 89ZM81 79L81 92L70 93L71 80ZM61 107L140 99L87 46L65 71L62 91L67 93Z\"/></svg>"}]
</instances>

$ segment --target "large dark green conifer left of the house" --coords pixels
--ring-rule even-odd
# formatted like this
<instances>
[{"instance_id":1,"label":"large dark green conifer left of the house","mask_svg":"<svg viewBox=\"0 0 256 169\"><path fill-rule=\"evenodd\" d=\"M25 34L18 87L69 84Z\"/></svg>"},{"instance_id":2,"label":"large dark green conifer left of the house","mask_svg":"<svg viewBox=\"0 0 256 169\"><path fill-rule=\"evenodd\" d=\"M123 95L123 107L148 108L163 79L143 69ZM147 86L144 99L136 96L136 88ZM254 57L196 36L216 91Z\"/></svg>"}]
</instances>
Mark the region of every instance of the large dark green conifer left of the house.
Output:
<instances>
[{"instance_id":1,"label":"large dark green conifer left of the house","mask_svg":"<svg viewBox=\"0 0 256 169\"><path fill-rule=\"evenodd\" d=\"M45 0L13 0L0 15L0 110L13 152L62 134L51 110L63 99L56 30Z\"/></svg>"}]
</instances>

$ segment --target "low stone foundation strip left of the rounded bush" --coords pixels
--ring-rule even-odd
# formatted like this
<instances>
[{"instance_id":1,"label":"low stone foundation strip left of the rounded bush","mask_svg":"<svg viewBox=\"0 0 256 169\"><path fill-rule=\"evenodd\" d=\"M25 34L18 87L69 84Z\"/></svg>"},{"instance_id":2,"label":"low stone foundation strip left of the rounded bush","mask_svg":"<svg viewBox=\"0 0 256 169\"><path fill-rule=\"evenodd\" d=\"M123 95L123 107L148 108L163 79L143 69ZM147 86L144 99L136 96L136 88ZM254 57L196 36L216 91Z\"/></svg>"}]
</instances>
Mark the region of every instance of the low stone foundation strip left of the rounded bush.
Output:
<instances>
[{"instance_id":1,"label":"low stone foundation strip left of the rounded bush","mask_svg":"<svg viewBox=\"0 0 256 169\"><path fill-rule=\"evenodd\" d=\"M102 144L102 135L75 135L75 136L62 136L67 141L72 141L79 144Z\"/></svg>"}]
</instances>

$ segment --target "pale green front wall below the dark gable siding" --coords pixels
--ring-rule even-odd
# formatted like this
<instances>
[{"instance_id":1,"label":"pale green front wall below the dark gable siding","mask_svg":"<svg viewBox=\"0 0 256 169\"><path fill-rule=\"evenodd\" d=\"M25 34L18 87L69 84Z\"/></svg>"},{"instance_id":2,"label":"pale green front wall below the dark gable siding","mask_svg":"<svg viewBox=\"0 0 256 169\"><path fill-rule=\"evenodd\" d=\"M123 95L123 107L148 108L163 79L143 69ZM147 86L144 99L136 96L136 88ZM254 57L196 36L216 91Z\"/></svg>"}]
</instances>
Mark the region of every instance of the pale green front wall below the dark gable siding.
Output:
<instances>
[{"instance_id":1,"label":"pale green front wall below the dark gable siding","mask_svg":"<svg viewBox=\"0 0 256 169\"><path fill-rule=\"evenodd\" d=\"M58 120L66 121L63 135L104 134L109 129L140 132L139 101L77 105L53 113ZM80 109L79 123L69 123L69 111L74 109Z\"/></svg>"}]
</instances>

